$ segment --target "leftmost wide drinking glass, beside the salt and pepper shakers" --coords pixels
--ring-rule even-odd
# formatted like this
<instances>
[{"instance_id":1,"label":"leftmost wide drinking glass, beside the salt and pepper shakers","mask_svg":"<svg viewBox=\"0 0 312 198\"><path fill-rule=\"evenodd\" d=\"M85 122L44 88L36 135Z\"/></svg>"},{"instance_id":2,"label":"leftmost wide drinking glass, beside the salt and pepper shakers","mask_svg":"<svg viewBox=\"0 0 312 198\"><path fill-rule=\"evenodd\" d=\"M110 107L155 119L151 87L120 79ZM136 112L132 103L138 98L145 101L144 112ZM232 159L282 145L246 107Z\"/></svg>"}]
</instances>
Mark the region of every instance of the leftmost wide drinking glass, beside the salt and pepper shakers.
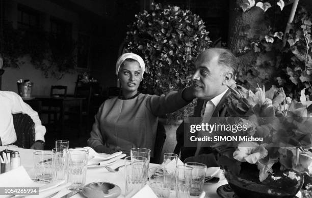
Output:
<instances>
[{"instance_id":1,"label":"leftmost wide drinking glass, beside the salt and pepper shakers","mask_svg":"<svg viewBox=\"0 0 312 198\"><path fill-rule=\"evenodd\" d=\"M35 151L34 168L36 179L52 179L52 151Z\"/></svg>"}]
</instances>

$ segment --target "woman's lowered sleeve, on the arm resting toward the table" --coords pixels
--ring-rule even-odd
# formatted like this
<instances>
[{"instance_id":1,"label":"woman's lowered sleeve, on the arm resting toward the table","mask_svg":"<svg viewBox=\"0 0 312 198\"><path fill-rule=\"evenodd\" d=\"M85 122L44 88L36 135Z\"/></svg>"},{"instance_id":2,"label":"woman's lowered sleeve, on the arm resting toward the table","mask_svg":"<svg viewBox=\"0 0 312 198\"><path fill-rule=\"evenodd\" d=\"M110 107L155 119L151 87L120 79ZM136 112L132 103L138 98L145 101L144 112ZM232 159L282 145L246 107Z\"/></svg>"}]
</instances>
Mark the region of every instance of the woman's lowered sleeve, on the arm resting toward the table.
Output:
<instances>
[{"instance_id":1,"label":"woman's lowered sleeve, on the arm resting toward the table","mask_svg":"<svg viewBox=\"0 0 312 198\"><path fill-rule=\"evenodd\" d=\"M88 140L88 146L90 146L91 148L95 148L96 146L99 145L104 145L105 144L105 140L103 139L102 133L101 133L101 129L100 129L100 117L102 114L102 110L104 107L103 103L100 108L98 109L97 114L94 116L94 124L92 126L92 131L90 134L90 138Z\"/></svg>"}]
</instances>

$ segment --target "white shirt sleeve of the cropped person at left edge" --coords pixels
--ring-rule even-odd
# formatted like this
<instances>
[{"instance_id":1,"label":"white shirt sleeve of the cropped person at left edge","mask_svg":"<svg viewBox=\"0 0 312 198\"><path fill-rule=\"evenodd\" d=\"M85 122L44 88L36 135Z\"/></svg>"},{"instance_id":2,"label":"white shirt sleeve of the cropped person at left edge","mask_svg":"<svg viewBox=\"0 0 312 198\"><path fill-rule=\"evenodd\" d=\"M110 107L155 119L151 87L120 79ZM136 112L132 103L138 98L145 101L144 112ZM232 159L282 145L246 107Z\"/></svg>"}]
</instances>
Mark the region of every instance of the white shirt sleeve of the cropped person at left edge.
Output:
<instances>
[{"instance_id":1,"label":"white shirt sleeve of the cropped person at left edge","mask_svg":"<svg viewBox=\"0 0 312 198\"><path fill-rule=\"evenodd\" d=\"M29 115L35 123L35 141L44 141L46 129L41 125L38 113L34 111L28 104L24 103L22 98L15 92L6 91L6 94L12 101L12 114L22 113Z\"/></svg>"}]
</instances>

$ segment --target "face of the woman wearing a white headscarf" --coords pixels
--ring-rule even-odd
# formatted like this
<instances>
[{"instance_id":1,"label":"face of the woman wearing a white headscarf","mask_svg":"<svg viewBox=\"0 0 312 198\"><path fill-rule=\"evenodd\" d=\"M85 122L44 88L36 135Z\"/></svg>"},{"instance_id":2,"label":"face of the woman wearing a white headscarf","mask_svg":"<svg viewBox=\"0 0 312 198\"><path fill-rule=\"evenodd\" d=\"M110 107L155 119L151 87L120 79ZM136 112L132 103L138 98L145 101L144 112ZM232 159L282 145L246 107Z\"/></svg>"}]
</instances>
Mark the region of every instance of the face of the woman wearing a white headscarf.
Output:
<instances>
[{"instance_id":1,"label":"face of the woman wearing a white headscarf","mask_svg":"<svg viewBox=\"0 0 312 198\"><path fill-rule=\"evenodd\" d=\"M139 62L123 62L119 70L119 81L123 92L136 92L142 80L142 70Z\"/></svg>"}]
</instances>

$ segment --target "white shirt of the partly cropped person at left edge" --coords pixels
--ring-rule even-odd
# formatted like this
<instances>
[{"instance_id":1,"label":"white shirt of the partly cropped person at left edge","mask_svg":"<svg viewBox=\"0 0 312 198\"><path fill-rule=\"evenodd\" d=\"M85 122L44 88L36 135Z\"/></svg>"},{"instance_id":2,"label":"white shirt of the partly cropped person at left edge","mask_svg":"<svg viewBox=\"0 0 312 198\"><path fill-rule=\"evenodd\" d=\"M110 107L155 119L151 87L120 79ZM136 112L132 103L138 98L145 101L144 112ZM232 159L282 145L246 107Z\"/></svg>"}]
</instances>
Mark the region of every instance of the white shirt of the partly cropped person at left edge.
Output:
<instances>
[{"instance_id":1,"label":"white shirt of the partly cropped person at left edge","mask_svg":"<svg viewBox=\"0 0 312 198\"><path fill-rule=\"evenodd\" d=\"M16 142L16 133L12 114L23 113L29 115L35 123L35 141L44 141L46 129L41 125L38 113L15 92L0 91L0 138L3 145Z\"/></svg>"}]
</instances>

